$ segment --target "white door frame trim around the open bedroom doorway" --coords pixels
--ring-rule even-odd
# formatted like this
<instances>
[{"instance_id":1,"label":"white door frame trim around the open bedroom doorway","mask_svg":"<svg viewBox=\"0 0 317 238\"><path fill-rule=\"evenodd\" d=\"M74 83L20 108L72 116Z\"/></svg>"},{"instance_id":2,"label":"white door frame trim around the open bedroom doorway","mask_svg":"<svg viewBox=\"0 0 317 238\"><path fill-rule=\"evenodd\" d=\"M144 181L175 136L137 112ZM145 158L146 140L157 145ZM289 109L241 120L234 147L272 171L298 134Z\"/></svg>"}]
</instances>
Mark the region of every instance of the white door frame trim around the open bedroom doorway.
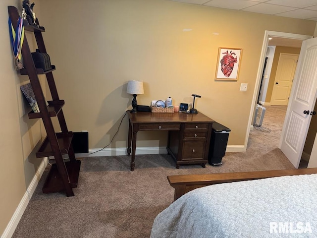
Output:
<instances>
[{"instance_id":1,"label":"white door frame trim around the open bedroom doorway","mask_svg":"<svg viewBox=\"0 0 317 238\"><path fill-rule=\"evenodd\" d=\"M309 35L300 35L300 34L293 34L293 33L286 33L286 32L278 32L278 31L265 31L264 32L264 40L263 40L263 45L262 45L262 51L261 51L261 56L260 56L260 63L259 63L259 68L258 68L258 73L257 73L257 79L256 79L256 86L254 88L254 92L253 92L253 97L252 97L252 104L251 104L251 109L250 109L250 115L249 115L249 122L248 122L248 128L247 128L247 132L246 132L246 139L244 142L244 146L245 146L245 150L247 150L247 145L248 145L248 140L249 140L249 135L250 135L250 129L253 126L252 125L252 119L253 119L253 115L255 112L255 108L257 106L257 98L259 95L259 90L260 90L260 83L261 83L261 77L262 77L262 73L263 73L263 68L264 68L264 60L266 57L266 51L267 51L267 46L268 46L268 38L269 37L283 37L283 38L289 38L289 39L296 39L296 40L308 40L313 38L313 36L309 36ZM294 79L295 80L295 79ZM294 82L293 82L294 85ZM291 97L293 95L290 95L290 99L289 102L291 101ZM286 113L286 117L288 116L288 114ZM285 123L285 120L284 120ZM284 126L284 124L283 124Z\"/></svg>"}]
</instances>

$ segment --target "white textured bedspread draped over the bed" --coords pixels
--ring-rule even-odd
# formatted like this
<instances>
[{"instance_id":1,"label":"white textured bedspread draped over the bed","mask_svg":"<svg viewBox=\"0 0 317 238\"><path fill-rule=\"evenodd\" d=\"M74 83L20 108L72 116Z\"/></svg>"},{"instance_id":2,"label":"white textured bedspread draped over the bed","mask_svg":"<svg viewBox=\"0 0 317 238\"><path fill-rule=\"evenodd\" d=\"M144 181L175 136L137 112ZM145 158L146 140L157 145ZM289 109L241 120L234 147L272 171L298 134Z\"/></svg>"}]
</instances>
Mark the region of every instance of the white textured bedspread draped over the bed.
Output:
<instances>
[{"instance_id":1,"label":"white textured bedspread draped over the bed","mask_svg":"<svg viewBox=\"0 0 317 238\"><path fill-rule=\"evenodd\" d=\"M178 198L151 238L317 237L317 175L215 184Z\"/></svg>"}]
</instances>

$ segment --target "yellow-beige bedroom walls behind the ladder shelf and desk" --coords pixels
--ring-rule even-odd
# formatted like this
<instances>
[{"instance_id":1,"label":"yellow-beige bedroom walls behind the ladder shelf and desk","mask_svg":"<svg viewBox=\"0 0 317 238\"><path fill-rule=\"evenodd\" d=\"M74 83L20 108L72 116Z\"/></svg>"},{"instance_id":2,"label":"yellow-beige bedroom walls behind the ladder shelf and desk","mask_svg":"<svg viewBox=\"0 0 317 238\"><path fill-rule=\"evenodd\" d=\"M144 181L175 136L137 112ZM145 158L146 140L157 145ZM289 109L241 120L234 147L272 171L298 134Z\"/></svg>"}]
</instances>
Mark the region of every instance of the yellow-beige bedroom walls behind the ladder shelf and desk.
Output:
<instances>
[{"instance_id":1,"label":"yellow-beige bedroom walls behind the ladder shelf and desk","mask_svg":"<svg viewBox=\"0 0 317 238\"><path fill-rule=\"evenodd\" d=\"M40 120L25 115L30 108L19 86L28 78L12 64L6 6L20 2L0 1L0 234L39 167L34 152L45 134ZM316 25L165 0L37 0L35 9L46 27L44 39L56 65L59 97L66 102L68 128L88 130L89 148L108 144L131 108L128 80L145 83L140 105L168 96L177 104L191 103L191 94L201 95L196 108L231 129L229 145L243 145L264 31L313 35ZM30 43L35 48L34 40ZM237 82L214 81L218 47L243 49ZM248 91L240 92L240 83L248 83ZM124 119L110 147L126 147L127 124ZM138 133L138 146L165 145L164 132Z\"/></svg>"}]
</instances>

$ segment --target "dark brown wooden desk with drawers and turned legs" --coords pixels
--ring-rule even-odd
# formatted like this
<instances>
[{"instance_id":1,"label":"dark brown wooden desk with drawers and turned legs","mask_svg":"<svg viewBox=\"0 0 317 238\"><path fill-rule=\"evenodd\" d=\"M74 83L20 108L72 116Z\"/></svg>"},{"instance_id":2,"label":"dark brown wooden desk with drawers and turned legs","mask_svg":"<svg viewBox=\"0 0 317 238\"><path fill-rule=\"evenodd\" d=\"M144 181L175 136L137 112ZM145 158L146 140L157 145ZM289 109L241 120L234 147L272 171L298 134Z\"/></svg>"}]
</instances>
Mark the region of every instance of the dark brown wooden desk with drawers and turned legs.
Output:
<instances>
[{"instance_id":1,"label":"dark brown wooden desk with drawers and turned legs","mask_svg":"<svg viewBox=\"0 0 317 238\"><path fill-rule=\"evenodd\" d=\"M131 171L135 167L135 149L139 130L168 130L167 152L180 165L208 163L212 122L202 113L130 113L128 134L128 156L131 155Z\"/></svg>"}]
</instances>

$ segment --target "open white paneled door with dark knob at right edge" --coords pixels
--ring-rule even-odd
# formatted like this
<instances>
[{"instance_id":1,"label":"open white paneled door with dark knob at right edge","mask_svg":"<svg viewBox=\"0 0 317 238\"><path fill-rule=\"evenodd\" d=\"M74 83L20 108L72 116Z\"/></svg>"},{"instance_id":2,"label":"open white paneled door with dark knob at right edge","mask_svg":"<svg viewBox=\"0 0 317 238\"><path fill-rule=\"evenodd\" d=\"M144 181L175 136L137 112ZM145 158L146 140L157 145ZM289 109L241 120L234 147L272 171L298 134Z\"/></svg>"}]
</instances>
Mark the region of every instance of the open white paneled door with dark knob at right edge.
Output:
<instances>
[{"instance_id":1,"label":"open white paneled door with dark knob at right edge","mask_svg":"<svg viewBox=\"0 0 317 238\"><path fill-rule=\"evenodd\" d=\"M298 168L317 98L317 38L303 41L293 84L279 147Z\"/></svg>"}]
</instances>

